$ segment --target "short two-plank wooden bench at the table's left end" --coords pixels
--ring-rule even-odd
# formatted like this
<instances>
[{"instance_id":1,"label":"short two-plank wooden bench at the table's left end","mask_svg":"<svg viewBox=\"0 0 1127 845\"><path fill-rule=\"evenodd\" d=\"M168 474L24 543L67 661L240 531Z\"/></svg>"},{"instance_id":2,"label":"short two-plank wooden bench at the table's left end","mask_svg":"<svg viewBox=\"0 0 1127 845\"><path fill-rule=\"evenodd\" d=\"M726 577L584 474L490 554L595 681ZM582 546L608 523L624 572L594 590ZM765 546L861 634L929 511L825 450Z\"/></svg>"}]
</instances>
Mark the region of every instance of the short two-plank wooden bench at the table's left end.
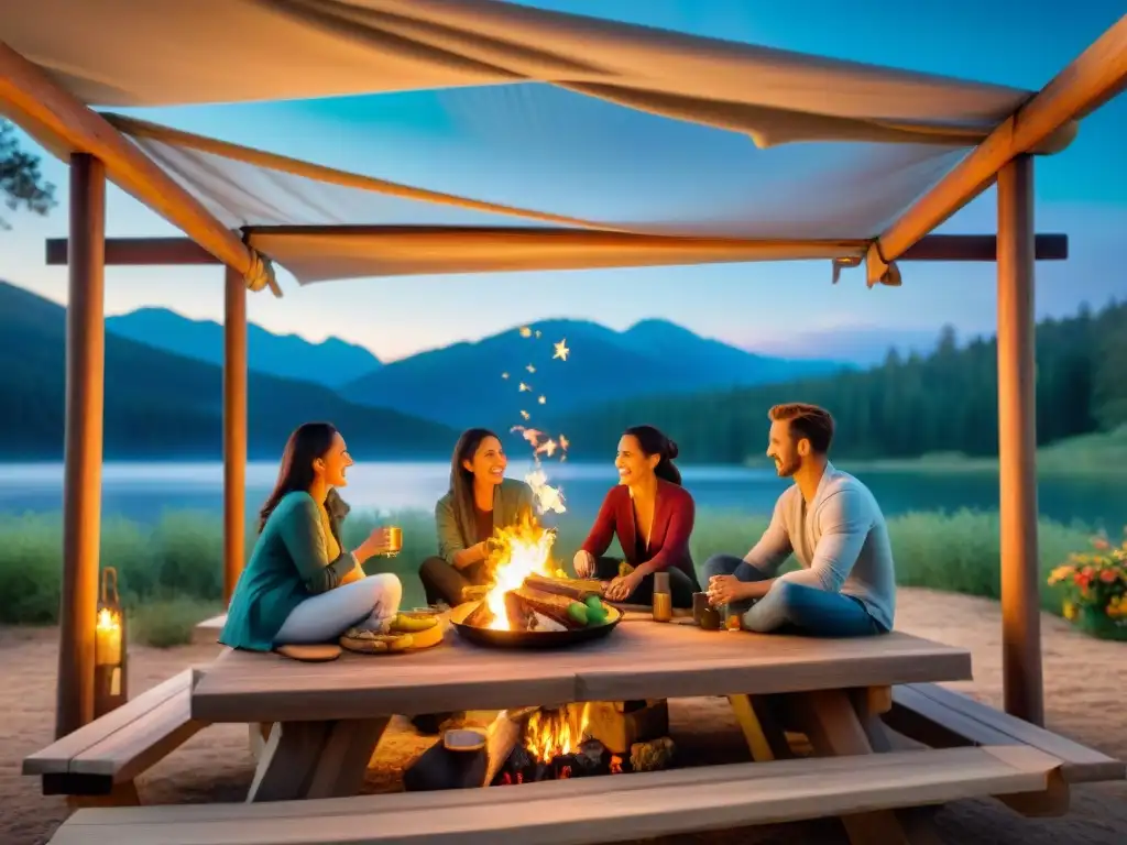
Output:
<instances>
[{"instance_id":1,"label":"short two-plank wooden bench at the table's left end","mask_svg":"<svg viewBox=\"0 0 1127 845\"><path fill-rule=\"evenodd\" d=\"M24 758L45 795L77 804L140 803L133 779L204 727L192 719L192 669Z\"/></svg>"}]
</instances>

